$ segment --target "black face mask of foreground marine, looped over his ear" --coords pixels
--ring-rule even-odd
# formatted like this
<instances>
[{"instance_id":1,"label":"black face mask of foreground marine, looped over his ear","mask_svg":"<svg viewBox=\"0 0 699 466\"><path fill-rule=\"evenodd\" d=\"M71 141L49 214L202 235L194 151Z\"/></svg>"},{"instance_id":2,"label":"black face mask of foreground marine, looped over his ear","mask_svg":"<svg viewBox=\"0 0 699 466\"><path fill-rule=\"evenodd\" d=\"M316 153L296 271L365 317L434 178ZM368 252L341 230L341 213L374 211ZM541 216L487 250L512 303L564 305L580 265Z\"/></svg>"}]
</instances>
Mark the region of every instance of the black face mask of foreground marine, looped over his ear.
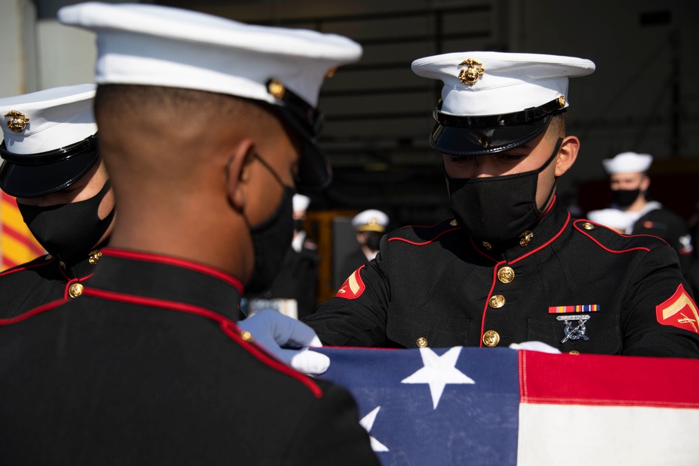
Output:
<instances>
[{"instance_id":1,"label":"black face mask of foreground marine, looped over his ear","mask_svg":"<svg viewBox=\"0 0 699 466\"><path fill-rule=\"evenodd\" d=\"M281 178L266 161L257 154L255 156L272 173L275 180L282 185L284 193L274 212L267 219L255 226L250 226L255 265L250 281L245 285L246 293L261 293L269 288L274 277L278 274L282 261L284 261L284 254L294 238L295 191L282 183Z\"/></svg>"}]
</instances>

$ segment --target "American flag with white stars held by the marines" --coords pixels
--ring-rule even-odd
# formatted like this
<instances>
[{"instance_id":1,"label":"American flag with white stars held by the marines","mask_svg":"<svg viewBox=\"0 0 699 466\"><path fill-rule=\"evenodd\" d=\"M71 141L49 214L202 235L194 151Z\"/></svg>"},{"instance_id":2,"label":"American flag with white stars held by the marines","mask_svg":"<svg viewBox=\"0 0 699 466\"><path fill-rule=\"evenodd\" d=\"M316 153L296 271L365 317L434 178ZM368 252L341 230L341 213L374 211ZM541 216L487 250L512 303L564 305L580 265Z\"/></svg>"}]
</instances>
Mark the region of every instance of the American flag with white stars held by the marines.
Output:
<instances>
[{"instance_id":1,"label":"American flag with white stars held by the marines","mask_svg":"<svg viewBox=\"0 0 699 466\"><path fill-rule=\"evenodd\" d=\"M319 349L383 465L699 465L699 361Z\"/></svg>"}]
</instances>

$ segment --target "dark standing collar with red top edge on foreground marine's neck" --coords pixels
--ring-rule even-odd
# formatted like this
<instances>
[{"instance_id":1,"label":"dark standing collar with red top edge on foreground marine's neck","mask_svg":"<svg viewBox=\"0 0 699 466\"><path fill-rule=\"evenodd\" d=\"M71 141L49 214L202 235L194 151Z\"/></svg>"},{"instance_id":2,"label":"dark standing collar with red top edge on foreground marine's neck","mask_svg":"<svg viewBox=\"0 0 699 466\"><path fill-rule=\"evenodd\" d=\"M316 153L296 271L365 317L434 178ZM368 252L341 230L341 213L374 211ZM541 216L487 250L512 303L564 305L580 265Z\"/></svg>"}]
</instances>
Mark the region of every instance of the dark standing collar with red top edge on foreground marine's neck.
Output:
<instances>
[{"instance_id":1,"label":"dark standing collar with red top edge on foreground marine's neck","mask_svg":"<svg viewBox=\"0 0 699 466\"><path fill-rule=\"evenodd\" d=\"M102 250L88 288L128 296L184 303L236 320L243 285L208 265L126 249Z\"/></svg>"}]
</instances>

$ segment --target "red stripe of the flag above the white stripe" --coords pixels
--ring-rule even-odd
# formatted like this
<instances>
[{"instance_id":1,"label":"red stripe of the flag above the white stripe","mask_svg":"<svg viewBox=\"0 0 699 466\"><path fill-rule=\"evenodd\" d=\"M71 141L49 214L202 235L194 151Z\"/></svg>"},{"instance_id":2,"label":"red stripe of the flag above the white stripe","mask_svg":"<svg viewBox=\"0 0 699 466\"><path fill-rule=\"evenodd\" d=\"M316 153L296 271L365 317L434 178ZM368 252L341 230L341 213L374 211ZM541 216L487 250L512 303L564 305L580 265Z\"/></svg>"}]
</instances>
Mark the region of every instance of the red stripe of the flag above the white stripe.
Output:
<instances>
[{"instance_id":1,"label":"red stripe of the flag above the white stripe","mask_svg":"<svg viewBox=\"0 0 699 466\"><path fill-rule=\"evenodd\" d=\"M699 408L699 361L519 351L521 402Z\"/></svg>"}]
</instances>

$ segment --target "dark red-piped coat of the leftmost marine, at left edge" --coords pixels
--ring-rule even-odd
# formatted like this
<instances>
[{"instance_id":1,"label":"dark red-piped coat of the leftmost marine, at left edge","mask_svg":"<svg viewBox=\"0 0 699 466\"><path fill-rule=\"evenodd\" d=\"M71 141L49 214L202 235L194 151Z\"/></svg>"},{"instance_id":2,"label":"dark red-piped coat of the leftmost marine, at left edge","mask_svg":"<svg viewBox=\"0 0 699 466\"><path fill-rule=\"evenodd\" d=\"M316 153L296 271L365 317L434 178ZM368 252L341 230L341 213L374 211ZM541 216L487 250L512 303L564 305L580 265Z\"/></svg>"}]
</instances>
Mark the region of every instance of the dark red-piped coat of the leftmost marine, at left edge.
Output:
<instances>
[{"instance_id":1,"label":"dark red-piped coat of the leftmost marine, at left edge","mask_svg":"<svg viewBox=\"0 0 699 466\"><path fill-rule=\"evenodd\" d=\"M79 296L82 282L92 276L100 256L100 249L95 249L80 263L66 265L47 254L0 272L0 319Z\"/></svg>"}]
</instances>

